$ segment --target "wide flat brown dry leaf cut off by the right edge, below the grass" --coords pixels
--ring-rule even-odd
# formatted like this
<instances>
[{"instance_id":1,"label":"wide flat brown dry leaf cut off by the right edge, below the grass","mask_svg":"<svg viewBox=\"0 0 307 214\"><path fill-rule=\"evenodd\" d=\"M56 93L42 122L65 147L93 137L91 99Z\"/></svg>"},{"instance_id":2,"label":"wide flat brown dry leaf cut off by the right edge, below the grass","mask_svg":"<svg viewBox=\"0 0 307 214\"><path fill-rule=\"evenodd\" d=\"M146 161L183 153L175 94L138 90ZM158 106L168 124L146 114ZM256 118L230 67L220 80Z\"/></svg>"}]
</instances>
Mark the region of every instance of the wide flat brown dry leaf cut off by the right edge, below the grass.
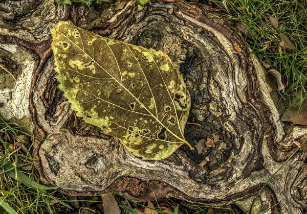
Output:
<instances>
[{"instance_id":1,"label":"wide flat brown dry leaf cut off by the right edge, below the grass","mask_svg":"<svg viewBox=\"0 0 307 214\"><path fill-rule=\"evenodd\" d=\"M303 105L299 113L297 108L289 109L281 116L281 121L307 125L307 105Z\"/></svg>"}]
</instances>

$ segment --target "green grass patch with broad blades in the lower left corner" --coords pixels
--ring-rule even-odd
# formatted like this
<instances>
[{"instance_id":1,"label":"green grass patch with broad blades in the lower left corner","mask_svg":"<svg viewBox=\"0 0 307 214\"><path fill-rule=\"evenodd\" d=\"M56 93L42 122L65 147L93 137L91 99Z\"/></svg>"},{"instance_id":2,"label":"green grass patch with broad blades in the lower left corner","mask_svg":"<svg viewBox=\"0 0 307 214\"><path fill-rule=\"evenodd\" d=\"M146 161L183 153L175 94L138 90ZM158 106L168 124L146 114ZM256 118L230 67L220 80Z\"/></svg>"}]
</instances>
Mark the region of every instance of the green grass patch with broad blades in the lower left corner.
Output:
<instances>
[{"instance_id":1,"label":"green grass patch with broad blades in the lower left corner","mask_svg":"<svg viewBox=\"0 0 307 214\"><path fill-rule=\"evenodd\" d=\"M0 213L66 213L72 208L65 197L48 192L55 187L39 184L31 155L33 136L22 128L0 117Z\"/></svg>"}]
</instances>

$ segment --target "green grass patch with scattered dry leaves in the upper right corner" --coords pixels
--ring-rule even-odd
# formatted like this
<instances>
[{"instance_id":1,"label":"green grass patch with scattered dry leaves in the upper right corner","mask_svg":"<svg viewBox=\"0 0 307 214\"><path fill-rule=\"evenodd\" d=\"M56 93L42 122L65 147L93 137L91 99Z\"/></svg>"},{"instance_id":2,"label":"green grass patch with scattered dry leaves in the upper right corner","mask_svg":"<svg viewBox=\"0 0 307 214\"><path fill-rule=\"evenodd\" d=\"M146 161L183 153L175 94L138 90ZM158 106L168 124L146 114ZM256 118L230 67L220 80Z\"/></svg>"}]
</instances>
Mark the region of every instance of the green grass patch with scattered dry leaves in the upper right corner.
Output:
<instances>
[{"instance_id":1,"label":"green grass patch with scattered dry leaves in the upper right corner","mask_svg":"<svg viewBox=\"0 0 307 214\"><path fill-rule=\"evenodd\" d=\"M307 100L307 2L300 0L208 0L239 29L262 64L276 69L286 86L281 100L298 94L299 111ZM276 25L277 24L277 25ZM280 100L280 101L281 101ZM288 109L289 109L288 108Z\"/></svg>"}]
</instances>

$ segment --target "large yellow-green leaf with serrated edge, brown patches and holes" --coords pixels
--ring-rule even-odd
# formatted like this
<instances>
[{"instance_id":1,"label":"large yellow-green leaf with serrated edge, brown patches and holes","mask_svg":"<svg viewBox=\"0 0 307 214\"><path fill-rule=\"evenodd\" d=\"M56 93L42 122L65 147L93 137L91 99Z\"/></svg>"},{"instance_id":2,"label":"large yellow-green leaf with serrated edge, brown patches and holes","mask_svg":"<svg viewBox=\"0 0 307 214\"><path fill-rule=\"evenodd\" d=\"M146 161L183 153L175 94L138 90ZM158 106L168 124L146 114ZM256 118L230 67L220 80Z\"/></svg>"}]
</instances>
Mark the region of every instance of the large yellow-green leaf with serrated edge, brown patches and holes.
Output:
<instances>
[{"instance_id":1,"label":"large yellow-green leaf with serrated edge, brown patches and holes","mask_svg":"<svg viewBox=\"0 0 307 214\"><path fill-rule=\"evenodd\" d=\"M134 155L160 160L187 144L190 94L161 51L101 37L60 21L51 30L57 80L77 116Z\"/></svg>"}]
</instances>

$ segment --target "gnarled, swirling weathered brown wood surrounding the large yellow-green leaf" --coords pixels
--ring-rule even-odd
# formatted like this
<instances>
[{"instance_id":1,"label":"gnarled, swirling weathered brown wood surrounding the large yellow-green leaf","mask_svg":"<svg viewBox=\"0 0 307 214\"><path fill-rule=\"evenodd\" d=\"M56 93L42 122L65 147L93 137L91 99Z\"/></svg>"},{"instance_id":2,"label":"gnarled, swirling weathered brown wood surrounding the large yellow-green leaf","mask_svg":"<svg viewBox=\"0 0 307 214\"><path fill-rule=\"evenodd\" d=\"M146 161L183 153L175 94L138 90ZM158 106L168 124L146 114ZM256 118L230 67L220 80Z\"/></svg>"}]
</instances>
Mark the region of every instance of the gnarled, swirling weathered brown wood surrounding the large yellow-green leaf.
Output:
<instances>
[{"instance_id":1,"label":"gnarled, swirling weathered brown wood surrounding the large yellow-green leaf","mask_svg":"<svg viewBox=\"0 0 307 214\"><path fill-rule=\"evenodd\" d=\"M53 140L34 140L36 168L43 183L60 186L62 193L117 191L137 201L176 197L214 206L237 203L248 211L252 197L297 148L293 141L302 143L307 138L306 126L279 120L276 92L265 70L249 55L242 36L216 19L219 15L213 9L160 0L138 11L135 1L129 1L122 10L101 18L112 5L88 8L56 5L53 0L34 2L0 4L5 11L0 41L18 43L37 59L30 115L35 136ZM20 6L21 11L14 13L10 4L27 7ZM191 94L191 124L186 125L185 138L192 146L205 139L202 153L183 146L162 161L142 161L117 139L76 117L57 87L50 49L49 30L62 19L108 38L167 53ZM270 210L272 206L275 213L281 207L283 213L307 209L306 175L298 163L305 157L297 153L276 174L256 207Z\"/></svg>"}]
</instances>

